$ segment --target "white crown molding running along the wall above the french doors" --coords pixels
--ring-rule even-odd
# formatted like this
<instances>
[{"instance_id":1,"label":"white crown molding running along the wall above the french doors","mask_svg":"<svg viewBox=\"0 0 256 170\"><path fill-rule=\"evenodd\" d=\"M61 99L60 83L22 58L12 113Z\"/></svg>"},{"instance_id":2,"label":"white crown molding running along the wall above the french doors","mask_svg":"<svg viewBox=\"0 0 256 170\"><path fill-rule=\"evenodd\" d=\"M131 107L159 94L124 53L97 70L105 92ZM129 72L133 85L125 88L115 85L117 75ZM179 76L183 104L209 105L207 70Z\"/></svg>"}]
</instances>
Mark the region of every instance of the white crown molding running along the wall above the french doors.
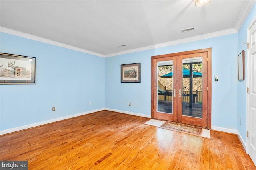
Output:
<instances>
[{"instance_id":1,"label":"white crown molding running along the wall above the french doors","mask_svg":"<svg viewBox=\"0 0 256 170\"><path fill-rule=\"evenodd\" d=\"M202 40L202 39L208 39L208 38L218 37L218 36L222 36L222 35L228 35L228 34L232 34L232 33L237 33L236 29L234 29L234 28L225 29L222 31L198 35L198 36L189 37L189 38L185 38L185 39L179 39L179 40L175 40L175 41L169 41L166 43L160 43L160 44L156 44L156 45L150 45L150 46L146 46L146 47L130 49L130 50L126 50L126 51L120 51L118 53L111 53L111 54L105 55L105 57L112 57L112 56L116 56L116 55L134 53L134 52L138 52L138 51L144 51L144 50L155 49L155 48L160 48L160 47L167 47L170 45L188 43L188 42L192 42L192 41L198 41L198 40Z\"/></svg>"}]
</instances>

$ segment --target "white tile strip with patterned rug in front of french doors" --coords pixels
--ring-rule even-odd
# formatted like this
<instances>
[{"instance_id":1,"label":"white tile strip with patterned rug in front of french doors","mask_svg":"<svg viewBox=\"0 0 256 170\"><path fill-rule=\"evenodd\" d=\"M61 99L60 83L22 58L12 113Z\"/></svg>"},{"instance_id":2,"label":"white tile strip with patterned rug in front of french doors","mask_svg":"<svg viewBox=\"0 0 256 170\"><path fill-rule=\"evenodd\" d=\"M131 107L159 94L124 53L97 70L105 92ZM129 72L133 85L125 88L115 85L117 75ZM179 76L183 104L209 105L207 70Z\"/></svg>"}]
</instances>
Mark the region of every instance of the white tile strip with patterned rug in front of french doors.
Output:
<instances>
[{"instance_id":1,"label":"white tile strip with patterned rug in front of french doors","mask_svg":"<svg viewBox=\"0 0 256 170\"><path fill-rule=\"evenodd\" d=\"M154 120L154 119L151 119L145 122L144 124L211 139L210 130L202 127L186 125L186 124L176 123L171 121L160 121L160 120Z\"/></svg>"}]
</instances>

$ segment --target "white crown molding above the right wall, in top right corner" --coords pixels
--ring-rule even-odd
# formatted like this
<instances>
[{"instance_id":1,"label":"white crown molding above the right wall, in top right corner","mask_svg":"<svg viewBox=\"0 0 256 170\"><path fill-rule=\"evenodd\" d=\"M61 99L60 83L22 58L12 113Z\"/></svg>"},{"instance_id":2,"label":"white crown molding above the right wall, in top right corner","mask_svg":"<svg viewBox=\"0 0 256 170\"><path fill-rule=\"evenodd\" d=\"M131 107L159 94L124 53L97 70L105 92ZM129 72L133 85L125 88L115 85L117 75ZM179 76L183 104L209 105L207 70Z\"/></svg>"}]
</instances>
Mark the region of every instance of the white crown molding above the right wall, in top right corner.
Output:
<instances>
[{"instance_id":1,"label":"white crown molding above the right wall, in top right corner","mask_svg":"<svg viewBox=\"0 0 256 170\"><path fill-rule=\"evenodd\" d=\"M244 3L244 6L238 16L238 19L236 21L236 24L235 24L235 29L236 31L239 31L240 28L242 27L246 17L248 16L248 14L250 13L254 3L256 2L256 0L247 0L245 3Z\"/></svg>"}]
</instances>

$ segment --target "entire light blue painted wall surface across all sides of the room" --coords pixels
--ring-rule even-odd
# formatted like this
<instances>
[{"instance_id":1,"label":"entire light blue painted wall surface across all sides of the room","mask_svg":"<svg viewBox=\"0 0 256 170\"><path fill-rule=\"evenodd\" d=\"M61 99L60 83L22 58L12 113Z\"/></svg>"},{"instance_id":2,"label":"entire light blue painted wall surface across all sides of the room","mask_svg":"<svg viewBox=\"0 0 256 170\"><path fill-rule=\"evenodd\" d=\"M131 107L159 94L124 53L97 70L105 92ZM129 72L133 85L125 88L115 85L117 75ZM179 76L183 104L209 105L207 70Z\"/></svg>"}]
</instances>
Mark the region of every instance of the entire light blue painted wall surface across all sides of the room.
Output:
<instances>
[{"instance_id":1,"label":"entire light blue painted wall surface across all sides of the room","mask_svg":"<svg viewBox=\"0 0 256 170\"><path fill-rule=\"evenodd\" d=\"M236 56L246 52L255 16L256 5L235 34L108 58L0 33L0 52L36 57L37 73L36 85L0 85L0 131L104 107L150 115L151 56L211 47L212 126L238 129L246 140L246 81L237 80ZM141 63L141 83L120 82L128 63Z\"/></svg>"}]
</instances>

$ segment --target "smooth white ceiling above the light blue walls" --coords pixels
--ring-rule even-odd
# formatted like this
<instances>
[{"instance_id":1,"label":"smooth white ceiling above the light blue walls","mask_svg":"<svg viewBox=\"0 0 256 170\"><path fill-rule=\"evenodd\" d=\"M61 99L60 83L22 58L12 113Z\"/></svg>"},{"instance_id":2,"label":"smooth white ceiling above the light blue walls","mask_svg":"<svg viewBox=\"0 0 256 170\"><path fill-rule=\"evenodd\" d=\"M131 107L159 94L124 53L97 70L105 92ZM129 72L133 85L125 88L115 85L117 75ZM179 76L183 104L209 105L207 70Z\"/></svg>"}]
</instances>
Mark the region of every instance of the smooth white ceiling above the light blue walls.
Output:
<instances>
[{"instance_id":1,"label":"smooth white ceiling above the light blue walls","mask_svg":"<svg viewBox=\"0 0 256 170\"><path fill-rule=\"evenodd\" d=\"M238 31L254 2L211 0L198 7L194 0L0 0L0 26L110 56ZM196 29L180 31L190 27Z\"/></svg>"}]
</instances>

